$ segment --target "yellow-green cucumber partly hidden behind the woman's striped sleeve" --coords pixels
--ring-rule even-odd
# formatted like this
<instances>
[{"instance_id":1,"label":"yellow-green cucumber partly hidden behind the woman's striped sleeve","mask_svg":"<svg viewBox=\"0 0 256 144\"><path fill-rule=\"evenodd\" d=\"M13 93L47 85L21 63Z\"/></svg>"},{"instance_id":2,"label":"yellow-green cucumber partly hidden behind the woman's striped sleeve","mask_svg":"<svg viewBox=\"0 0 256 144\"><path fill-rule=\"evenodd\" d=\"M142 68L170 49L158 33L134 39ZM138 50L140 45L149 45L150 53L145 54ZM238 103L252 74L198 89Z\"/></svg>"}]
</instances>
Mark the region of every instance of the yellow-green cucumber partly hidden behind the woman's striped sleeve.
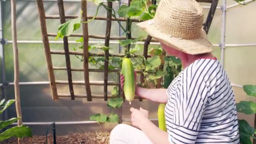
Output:
<instances>
[{"instance_id":1,"label":"yellow-green cucumber partly hidden behind the woman's striped sleeve","mask_svg":"<svg viewBox=\"0 0 256 144\"><path fill-rule=\"evenodd\" d=\"M167 131L166 124L165 124L165 104L159 104L157 116L158 116L158 127L163 131Z\"/></svg>"}]
</instances>

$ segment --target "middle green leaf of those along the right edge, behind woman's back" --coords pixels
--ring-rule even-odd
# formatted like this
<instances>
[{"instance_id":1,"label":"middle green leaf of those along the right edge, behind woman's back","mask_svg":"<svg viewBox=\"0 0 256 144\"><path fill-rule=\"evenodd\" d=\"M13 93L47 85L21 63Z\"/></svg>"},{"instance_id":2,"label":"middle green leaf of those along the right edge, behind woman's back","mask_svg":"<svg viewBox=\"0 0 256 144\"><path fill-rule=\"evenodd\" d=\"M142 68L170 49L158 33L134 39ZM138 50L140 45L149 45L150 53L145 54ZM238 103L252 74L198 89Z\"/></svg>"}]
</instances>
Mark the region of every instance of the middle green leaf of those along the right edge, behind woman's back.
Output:
<instances>
[{"instance_id":1,"label":"middle green leaf of those along the right edge, behind woman's back","mask_svg":"<svg viewBox=\"0 0 256 144\"><path fill-rule=\"evenodd\" d=\"M256 103L253 101L240 101L236 104L237 112L242 112L246 115L251 115L256 113Z\"/></svg>"}]
</instances>

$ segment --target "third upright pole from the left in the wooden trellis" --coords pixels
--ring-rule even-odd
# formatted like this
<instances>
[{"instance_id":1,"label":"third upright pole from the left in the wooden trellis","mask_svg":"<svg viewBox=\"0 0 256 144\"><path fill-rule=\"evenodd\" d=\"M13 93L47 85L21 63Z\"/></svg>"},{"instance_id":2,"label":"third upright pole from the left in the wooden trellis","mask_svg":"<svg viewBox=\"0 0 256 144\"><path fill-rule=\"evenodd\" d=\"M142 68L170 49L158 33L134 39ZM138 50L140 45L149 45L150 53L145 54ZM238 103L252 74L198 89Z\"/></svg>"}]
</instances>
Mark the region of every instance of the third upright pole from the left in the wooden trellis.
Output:
<instances>
[{"instance_id":1,"label":"third upright pole from the left in the wooden trellis","mask_svg":"<svg viewBox=\"0 0 256 144\"><path fill-rule=\"evenodd\" d=\"M82 21L87 21L87 1L81 1ZM92 101L91 97L91 87L89 83L89 52L88 52L88 24L83 23L83 68L84 68L84 79L85 79L85 89L87 93L87 101Z\"/></svg>"}]
</instances>

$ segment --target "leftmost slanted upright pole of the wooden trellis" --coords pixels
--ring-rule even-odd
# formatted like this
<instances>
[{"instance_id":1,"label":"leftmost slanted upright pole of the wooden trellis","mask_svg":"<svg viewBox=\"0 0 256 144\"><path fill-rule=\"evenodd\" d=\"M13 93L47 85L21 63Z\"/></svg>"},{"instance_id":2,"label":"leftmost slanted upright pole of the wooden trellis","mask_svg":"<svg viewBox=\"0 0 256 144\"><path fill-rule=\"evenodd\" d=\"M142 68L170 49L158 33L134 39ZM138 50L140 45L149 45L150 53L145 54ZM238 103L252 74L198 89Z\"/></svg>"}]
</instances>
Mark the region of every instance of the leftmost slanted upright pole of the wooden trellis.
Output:
<instances>
[{"instance_id":1,"label":"leftmost slanted upright pole of the wooden trellis","mask_svg":"<svg viewBox=\"0 0 256 144\"><path fill-rule=\"evenodd\" d=\"M53 64L51 60L51 51L50 51L50 45L49 45L49 40L47 36L47 27L46 27L46 22L45 22L45 10L43 6L43 0L36 0L37 1L37 11L40 19L40 26L41 26L41 34L42 34L42 39L43 39L43 45L45 49L45 60L47 63L47 73L48 73L48 78L50 81L50 88L51 88L51 95L53 96L53 100L56 101L58 100L58 95L57 95L57 88L56 88L56 83L55 83L55 76L53 72Z\"/></svg>"}]
</instances>

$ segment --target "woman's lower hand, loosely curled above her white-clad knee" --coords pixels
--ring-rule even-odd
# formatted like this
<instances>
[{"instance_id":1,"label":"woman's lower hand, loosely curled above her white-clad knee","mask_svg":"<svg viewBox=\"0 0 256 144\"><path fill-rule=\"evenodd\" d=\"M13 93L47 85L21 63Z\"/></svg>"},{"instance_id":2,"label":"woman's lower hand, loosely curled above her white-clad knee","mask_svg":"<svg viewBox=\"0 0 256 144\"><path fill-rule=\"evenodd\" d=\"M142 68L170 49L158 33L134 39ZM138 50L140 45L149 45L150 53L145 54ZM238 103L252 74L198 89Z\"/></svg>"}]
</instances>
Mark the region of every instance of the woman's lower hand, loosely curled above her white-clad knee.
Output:
<instances>
[{"instance_id":1,"label":"woman's lower hand, loosely curled above her white-clad knee","mask_svg":"<svg viewBox=\"0 0 256 144\"><path fill-rule=\"evenodd\" d=\"M137 128L141 128L142 124L148 120L149 112L146 109L135 109L131 107L131 123Z\"/></svg>"}]
</instances>

